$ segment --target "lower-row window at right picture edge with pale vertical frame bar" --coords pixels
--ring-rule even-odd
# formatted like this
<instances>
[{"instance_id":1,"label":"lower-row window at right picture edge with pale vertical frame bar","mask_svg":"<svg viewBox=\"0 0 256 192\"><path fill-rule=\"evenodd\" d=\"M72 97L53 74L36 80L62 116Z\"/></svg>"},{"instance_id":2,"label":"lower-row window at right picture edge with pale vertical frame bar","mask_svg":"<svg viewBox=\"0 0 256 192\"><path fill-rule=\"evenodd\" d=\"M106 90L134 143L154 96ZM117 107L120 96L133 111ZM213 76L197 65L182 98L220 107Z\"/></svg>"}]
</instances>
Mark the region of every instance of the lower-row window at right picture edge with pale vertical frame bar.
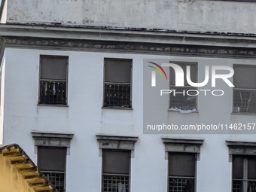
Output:
<instances>
[{"instance_id":1,"label":"lower-row window at right picture edge with pale vertical frame bar","mask_svg":"<svg viewBox=\"0 0 256 192\"><path fill-rule=\"evenodd\" d=\"M232 157L233 192L256 192L256 157Z\"/></svg>"}]
</instances>

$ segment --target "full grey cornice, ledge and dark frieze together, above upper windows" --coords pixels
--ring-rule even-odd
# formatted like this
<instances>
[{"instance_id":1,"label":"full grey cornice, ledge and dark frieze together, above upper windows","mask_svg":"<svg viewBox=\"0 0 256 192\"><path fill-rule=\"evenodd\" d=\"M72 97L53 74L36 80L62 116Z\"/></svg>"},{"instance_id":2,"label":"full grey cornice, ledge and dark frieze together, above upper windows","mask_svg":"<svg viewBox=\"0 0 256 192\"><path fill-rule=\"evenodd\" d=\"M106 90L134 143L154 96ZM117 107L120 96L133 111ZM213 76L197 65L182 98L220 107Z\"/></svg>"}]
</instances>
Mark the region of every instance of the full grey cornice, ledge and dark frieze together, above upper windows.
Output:
<instances>
[{"instance_id":1,"label":"full grey cornice, ledge and dark frieze together, above upper windows","mask_svg":"<svg viewBox=\"0 0 256 192\"><path fill-rule=\"evenodd\" d=\"M0 25L0 59L6 47L139 53L165 56L256 58L254 34L200 34L133 29Z\"/></svg>"}]
</instances>

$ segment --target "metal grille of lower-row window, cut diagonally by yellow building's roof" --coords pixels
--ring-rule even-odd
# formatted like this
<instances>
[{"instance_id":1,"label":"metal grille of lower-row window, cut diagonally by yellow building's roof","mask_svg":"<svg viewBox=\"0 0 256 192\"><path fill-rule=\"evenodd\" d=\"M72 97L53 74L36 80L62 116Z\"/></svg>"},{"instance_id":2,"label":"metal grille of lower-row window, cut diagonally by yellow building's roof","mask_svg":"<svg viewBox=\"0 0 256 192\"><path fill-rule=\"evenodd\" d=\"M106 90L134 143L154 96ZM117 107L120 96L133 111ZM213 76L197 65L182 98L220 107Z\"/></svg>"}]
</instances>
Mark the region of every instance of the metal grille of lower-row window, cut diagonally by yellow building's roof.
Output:
<instances>
[{"instance_id":1,"label":"metal grille of lower-row window, cut diagonally by yellow building's roof","mask_svg":"<svg viewBox=\"0 0 256 192\"><path fill-rule=\"evenodd\" d=\"M65 192L65 173L43 172L47 179L56 187L59 192Z\"/></svg>"}]
</instances>

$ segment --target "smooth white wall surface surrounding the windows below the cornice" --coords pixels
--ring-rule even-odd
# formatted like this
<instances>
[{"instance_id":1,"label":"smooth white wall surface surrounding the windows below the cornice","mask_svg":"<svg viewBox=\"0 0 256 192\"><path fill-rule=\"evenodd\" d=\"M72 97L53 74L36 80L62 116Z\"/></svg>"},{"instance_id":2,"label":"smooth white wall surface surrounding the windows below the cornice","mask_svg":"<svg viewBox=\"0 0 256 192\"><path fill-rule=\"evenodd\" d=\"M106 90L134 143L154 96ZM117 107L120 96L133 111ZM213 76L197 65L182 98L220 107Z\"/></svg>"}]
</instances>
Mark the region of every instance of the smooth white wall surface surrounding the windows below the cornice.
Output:
<instances>
[{"instance_id":1,"label":"smooth white wall surface surrounding the windows below the cornice","mask_svg":"<svg viewBox=\"0 0 256 192\"><path fill-rule=\"evenodd\" d=\"M69 107L39 106L39 56L69 56ZM102 109L103 60L105 57L133 59L133 110ZM4 143L16 142L34 162L34 140L30 130L72 131L71 154L67 157L67 192L101 190L102 157L96 133L139 136L135 157L131 159L131 191L167 190L167 163L161 135L145 135L142 130L142 63L143 59L182 59L181 56L155 56L124 53L93 53L60 50L7 48L5 50ZM187 57L186 57L187 59ZM199 59L199 58L192 58ZM211 62L210 62L211 61ZM209 59L209 65L225 63L253 64L245 59ZM205 65L205 63L201 63ZM203 77L199 77L203 79ZM198 114L182 115L167 112L166 117L190 124L206 119L229 123L254 123L251 115L231 115L232 88L221 84L225 91L221 105L209 113L205 98L198 99ZM219 98L220 99L220 98ZM159 111L166 114L166 108ZM213 114L213 115L212 115ZM172 135L166 135L172 136ZM182 135L201 137L205 142L197 162L197 192L231 191L231 163L228 162L227 139L254 141L251 135Z\"/></svg>"}]
</instances>

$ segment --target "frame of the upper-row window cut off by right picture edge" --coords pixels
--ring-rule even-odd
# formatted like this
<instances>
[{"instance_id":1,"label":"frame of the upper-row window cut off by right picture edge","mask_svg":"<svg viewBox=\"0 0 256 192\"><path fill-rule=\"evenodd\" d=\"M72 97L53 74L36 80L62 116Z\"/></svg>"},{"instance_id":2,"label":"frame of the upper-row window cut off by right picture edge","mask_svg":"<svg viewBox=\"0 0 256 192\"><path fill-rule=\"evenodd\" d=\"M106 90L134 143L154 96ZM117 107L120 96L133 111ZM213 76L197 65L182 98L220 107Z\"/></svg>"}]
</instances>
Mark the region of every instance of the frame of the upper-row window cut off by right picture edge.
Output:
<instances>
[{"instance_id":1,"label":"frame of the upper-row window cut off by right picture edge","mask_svg":"<svg viewBox=\"0 0 256 192\"><path fill-rule=\"evenodd\" d=\"M256 66L255 65L242 65L242 64L233 64L233 69L235 69L235 66L238 66L238 67L253 67L256 69ZM233 84L234 84L234 76L233 75ZM236 85L234 85L236 86ZM235 112L234 111L234 96L235 96L235 91L236 90L247 90L247 91L256 91L256 87L255 89L249 89L249 88L236 88L236 87L233 87L233 94L232 94L232 114L247 114L247 115L256 115L256 105L255 105L255 108L254 108L254 112L240 112L241 111L241 108L239 107L239 112Z\"/></svg>"}]
</instances>

